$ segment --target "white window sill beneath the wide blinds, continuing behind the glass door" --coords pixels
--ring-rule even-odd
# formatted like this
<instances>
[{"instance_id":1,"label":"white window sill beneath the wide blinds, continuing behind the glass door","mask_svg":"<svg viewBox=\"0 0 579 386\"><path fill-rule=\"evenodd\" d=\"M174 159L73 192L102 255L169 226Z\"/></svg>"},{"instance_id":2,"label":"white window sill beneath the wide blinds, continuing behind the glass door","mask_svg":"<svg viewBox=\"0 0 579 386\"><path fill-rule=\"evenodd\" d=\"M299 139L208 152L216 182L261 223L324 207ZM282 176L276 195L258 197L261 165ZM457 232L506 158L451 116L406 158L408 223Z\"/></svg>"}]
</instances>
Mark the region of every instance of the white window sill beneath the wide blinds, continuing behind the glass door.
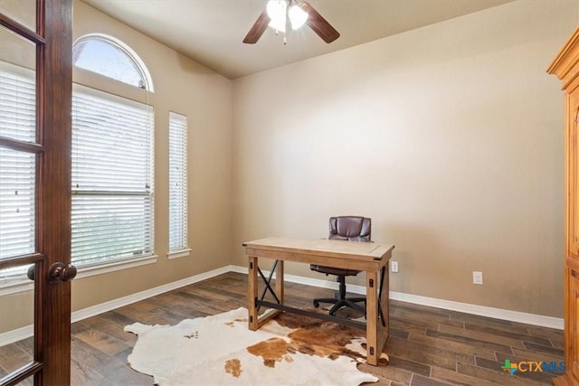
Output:
<instances>
[{"instance_id":1,"label":"white window sill beneath the wide blinds, continuing behind the glass door","mask_svg":"<svg viewBox=\"0 0 579 386\"><path fill-rule=\"evenodd\" d=\"M79 268L78 274L75 278L90 278L91 276L101 275L103 273L114 272L122 269L135 268L144 266L147 264L154 264L157 262L157 255L147 256L138 259L122 260L107 264L101 264L96 266L81 267ZM33 282L28 278L23 276L22 279L12 280L8 283L2 283L0 281L0 297L10 294L16 294L19 292L29 291L34 288Z\"/></svg>"}]
</instances>

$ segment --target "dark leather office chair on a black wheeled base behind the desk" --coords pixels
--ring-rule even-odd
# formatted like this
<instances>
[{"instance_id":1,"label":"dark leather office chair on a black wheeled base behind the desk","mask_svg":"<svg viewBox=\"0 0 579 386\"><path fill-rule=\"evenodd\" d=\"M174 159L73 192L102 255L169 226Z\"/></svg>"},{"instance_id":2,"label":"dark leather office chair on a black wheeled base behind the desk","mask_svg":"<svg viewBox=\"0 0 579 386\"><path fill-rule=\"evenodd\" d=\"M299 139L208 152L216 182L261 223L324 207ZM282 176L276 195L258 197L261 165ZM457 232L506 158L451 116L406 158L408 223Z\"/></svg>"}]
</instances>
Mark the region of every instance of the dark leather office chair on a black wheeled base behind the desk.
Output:
<instances>
[{"instance_id":1,"label":"dark leather office chair on a black wheeled base behind the desk","mask_svg":"<svg viewBox=\"0 0 579 386\"><path fill-rule=\"evenodd\" d=\"M330 240L348 240L370 242L372 231L372 219L360 216L339 216L329 218L329 236ZM309 268L326 275L336 275L339 289L337 297L322 297L314 299L314 306L318 307L320 303L333 304L329 310L329 315L335 315L337 310L346 306L357 311L365 313L365 297L346 297L346 276L356 276L359 270L346 268L333 268L310 264ZM364 306L358 303L364 302Z\"/></svg>"}]
</instances>

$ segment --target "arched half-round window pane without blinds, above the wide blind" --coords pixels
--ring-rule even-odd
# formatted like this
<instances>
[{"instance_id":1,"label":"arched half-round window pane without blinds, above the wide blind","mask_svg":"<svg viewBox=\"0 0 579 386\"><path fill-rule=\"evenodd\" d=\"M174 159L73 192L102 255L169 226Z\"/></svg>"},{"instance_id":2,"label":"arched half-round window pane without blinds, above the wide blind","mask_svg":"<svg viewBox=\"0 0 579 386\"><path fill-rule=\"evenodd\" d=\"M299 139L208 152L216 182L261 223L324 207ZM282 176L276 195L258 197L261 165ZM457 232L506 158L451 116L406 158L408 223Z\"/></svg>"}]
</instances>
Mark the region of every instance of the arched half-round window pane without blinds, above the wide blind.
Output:
<instances>
[{"instance_id":1,"label":"arched half-round window pane without blinds, above the wide blind","mask_svg":"<svg viewBox=\"0 0 579 386\"><path fill-rule=\"evenodd\" d=\"M147 66L137 53L112 36L92 33L72 46L72 64L84 70L153 91Z\"/></svg>"}]
</instances>

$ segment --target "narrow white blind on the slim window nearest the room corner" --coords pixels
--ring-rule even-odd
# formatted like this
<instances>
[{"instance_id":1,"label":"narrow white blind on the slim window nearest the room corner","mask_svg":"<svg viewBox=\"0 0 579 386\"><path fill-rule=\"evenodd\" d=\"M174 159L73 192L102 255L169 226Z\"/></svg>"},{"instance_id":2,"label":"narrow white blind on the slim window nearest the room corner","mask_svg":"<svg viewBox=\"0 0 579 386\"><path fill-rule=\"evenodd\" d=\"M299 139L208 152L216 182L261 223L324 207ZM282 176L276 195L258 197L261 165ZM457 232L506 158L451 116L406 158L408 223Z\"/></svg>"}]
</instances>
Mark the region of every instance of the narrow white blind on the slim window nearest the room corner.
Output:
<instances>
[{"instance_id":1,"label":"narrow white blind on the slim window nearest the room corner","mask_svg":"<svg viewBox=\"0 0 579 386\"><path fill-rule=\"evenodd\" d=\"M169 252L187 249L187 118L169 113Z\"/></svg>"}]
</instances>

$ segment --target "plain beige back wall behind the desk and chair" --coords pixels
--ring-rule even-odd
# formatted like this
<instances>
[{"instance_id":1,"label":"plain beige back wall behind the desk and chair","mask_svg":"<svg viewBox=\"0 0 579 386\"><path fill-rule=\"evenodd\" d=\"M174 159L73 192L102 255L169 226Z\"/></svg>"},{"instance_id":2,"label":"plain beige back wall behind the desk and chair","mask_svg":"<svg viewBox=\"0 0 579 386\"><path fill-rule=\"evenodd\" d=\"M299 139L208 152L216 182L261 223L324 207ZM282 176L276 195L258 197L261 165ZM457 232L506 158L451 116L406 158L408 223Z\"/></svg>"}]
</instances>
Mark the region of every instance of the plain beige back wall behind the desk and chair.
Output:
<instances>
[{"instance_id":1,"label":"plain beige back wall behind the desk and chair","mask_svg":"<svg viewBox=\"0 0 579 386\"><path fill-rule=\"evenodd\" d=\"M563 95L546 67L578 7L516 2L234 80L235 263L244 240L360 214L396 246L391 290L562 317Z\"/></svg>"}]
</instances>

